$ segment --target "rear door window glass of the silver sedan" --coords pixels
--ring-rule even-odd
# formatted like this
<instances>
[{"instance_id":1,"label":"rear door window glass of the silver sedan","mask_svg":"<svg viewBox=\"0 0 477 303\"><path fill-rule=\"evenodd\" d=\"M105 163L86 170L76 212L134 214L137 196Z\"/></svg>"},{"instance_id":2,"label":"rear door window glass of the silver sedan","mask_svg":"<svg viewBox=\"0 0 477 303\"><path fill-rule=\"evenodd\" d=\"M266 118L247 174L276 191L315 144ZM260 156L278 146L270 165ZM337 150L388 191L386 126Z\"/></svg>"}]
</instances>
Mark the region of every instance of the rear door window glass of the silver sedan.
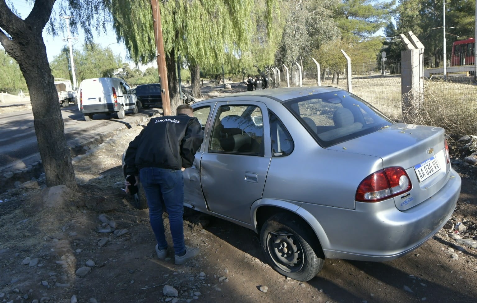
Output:
<instances>
[{"instance_id":1,"label":"rear door window glass of the silver sedan","mask_svg":"<svg viewBox=\"0 0 477 303\"><path fill-rule=\"evenodd\" d=\"M263 156L262 112L255 105L222 105L214 119L209 151Z\"/></svg>"}]
</instances>

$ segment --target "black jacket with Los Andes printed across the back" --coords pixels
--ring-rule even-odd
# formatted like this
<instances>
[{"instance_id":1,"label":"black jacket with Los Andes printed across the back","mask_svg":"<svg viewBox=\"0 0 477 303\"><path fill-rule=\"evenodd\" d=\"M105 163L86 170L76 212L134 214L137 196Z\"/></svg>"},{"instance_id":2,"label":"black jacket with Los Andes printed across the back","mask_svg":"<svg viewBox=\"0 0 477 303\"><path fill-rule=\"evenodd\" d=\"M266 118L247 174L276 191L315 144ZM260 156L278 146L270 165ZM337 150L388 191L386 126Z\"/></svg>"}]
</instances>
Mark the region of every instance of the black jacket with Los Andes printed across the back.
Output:
<instances>
[{"instance_id":1,"label":"black jacket with Los Andes printed across the back","mask_svg":"<svg viewBox=\"0 0 477 303\"><path fill-rule=\"evenodd\" d=\"M125 172L137 176L143 167L191 167L203 138L202 126L195 117L181 114L153 118L129 143Z\"/></svg>"}]
</instances>

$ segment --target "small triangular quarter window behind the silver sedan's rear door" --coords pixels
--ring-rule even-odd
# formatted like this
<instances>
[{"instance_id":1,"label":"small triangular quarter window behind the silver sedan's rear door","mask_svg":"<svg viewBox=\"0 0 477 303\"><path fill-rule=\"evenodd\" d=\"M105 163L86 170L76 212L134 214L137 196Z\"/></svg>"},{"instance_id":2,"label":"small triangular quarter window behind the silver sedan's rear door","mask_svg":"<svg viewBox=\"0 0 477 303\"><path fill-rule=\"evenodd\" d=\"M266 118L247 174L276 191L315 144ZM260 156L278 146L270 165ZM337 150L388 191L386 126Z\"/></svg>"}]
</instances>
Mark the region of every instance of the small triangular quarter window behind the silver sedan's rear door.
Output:
<instances>
[{"instance_id":1,"label":"small triangular quarter window behind the silver sedan's rear door","mask_svg":"<svg viewBox=\"0 0 477 303\"><path fill-rule=\"evenodd\" d=\"M290 133L277 115L270 110L269 115L272 156L282 157L290 155L294 147Z\"/></svg>"}]
</instances>

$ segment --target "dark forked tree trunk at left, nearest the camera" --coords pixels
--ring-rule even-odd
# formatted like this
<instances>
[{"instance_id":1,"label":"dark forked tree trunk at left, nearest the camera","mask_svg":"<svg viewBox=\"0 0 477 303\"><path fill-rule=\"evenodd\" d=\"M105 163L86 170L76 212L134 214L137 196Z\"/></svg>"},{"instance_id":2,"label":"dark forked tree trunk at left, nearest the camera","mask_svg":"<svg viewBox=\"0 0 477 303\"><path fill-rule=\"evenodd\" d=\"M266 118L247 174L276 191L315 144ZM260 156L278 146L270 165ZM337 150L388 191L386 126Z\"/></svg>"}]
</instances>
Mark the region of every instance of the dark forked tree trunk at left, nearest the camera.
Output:
<instances>
[{"instance_id":1,"label":"dark forked tree trunk at left, nearest the camera","mask_svg":"<svg viewBox=\"0 0 477 303\"><path fill-rule=\"evenodd\" d=\"M58 94L41 36L53 3L54 1L36 1L31 15L26 19L28 21L10 15L11 12L5 15L4 11L0 11L2 16L8 18L5 22L0 21L0 27L12 37L10 40L0 31L0 41L5 51L19 64L30 92L33 125L46 185L52 187L64 184L77 191Z\"/></svg>"}]
</instances>

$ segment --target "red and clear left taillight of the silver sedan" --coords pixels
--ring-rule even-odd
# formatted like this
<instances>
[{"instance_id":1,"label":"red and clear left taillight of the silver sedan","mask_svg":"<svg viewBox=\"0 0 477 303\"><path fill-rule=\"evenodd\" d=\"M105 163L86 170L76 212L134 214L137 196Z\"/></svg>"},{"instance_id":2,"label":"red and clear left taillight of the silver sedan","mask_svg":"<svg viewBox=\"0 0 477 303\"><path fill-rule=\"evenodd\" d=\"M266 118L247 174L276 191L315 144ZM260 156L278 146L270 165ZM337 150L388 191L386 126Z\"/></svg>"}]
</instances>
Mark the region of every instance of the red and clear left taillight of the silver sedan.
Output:
<instances>
[{"instance_id":1,"label":"red and clear left taillight of the silver sedan","mask_svg":"<svg viewBox=\"0 0 477 303\"><path fill-rule=\"evenodd\" d=\"M411 180L403 167L388 167L361 181L356 190L356 201L378 202L411 190Z\"/></svg>"}]
</instances>

